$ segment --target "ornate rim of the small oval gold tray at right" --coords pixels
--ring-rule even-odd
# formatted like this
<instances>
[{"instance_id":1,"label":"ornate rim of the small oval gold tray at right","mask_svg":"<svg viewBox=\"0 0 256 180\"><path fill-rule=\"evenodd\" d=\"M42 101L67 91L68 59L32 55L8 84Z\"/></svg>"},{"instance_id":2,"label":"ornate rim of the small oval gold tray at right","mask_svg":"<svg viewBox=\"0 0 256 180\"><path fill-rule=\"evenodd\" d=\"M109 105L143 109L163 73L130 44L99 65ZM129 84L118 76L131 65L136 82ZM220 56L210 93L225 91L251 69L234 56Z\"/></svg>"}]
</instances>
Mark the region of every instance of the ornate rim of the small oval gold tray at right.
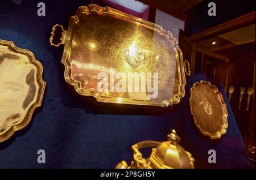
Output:
<instances>
[{"instance_id":1,"label":"ornate rim of the small oval gold tray at right","mask_svg":"<svg viewBox=\"0 0 256 180\"><path fill-rule=\"evenodd\" d=\"M223 110L223 125L221 125L221 131L216 132L216 135L210 135L209 132L207 131L203 131L200 127L200 125L196 122L196 118L193 115L193 110L192 110L192 106L191 106L191 100L192 100L192 91L195 89L196 85L199 84L205 84L208 85L210 88L213 89L214 93L216 94L218 100L220 101L222 110ZM226 128L228 128L228 110L226 109L226 103L221 95L221 92L218 91L218 88L215 85L212 85L210 82L201 80L200 83L196 82L193 84L193 87L190 89L190 98L189 98L189 106L190 106L190 110L191 110L191 114L193 116L195 125L197 128L199 128L199 130L202 132L202 134L210 136L210 139L218 139L221 138L221 135L224 135L226 133Z\"/></svg>"}]
</instances>

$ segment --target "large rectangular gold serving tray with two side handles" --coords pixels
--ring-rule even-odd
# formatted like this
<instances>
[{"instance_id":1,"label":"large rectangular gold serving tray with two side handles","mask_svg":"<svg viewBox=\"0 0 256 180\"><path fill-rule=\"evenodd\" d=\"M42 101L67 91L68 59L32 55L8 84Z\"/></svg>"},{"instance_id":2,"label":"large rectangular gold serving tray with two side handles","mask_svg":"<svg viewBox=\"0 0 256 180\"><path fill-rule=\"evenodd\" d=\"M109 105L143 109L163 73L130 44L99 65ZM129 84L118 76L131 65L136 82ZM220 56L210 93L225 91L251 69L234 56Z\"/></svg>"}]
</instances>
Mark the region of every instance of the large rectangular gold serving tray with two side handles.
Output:
<instances>
[{"instance_id":1,"label":"large rectangular gold serving tray with two side handles","mask_svg":"<svg viewBox=\"0 0 256 180\"><path fill-rule=\"evenodd\" d=\"M59 43L53 42L57 28L63 31ZM102 102L154 106L177 104L184 97L185 73L189 72L185 71L176 38L159 25L110 7L81 6L71 17L68 31L56 24L49 41L52 46L65 45L61 61L65 65L64 78L80 95L93 96ZM97 79L101 72L108 76ZM117 78L118 72L121 78ZM157 96L156 88L147 89L156 87L154 72L158 74ZM137 91L135 79L129 82L129 73L142 73ZM107 84L102 85L106 87L104 91L98 88L101 80ZM119 80L126 84L119 86L122 91L116 88Z\"/></svg>"}]
</instances>

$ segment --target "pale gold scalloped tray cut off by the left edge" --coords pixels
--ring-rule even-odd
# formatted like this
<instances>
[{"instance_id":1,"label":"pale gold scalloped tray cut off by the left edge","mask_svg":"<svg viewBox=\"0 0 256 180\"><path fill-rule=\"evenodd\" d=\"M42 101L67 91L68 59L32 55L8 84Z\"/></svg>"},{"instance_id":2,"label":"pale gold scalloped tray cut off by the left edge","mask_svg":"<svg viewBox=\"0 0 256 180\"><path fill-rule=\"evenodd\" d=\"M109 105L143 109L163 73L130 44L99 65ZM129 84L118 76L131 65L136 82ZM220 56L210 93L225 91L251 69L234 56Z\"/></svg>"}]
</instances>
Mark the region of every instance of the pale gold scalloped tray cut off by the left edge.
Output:
<instances>
[{"instance_id":1,"label":"pale gold scalloped tray cut off by the left edge","mask_svg":"<svg viewBox=\"0 0 256 180\"><path fill-rule=\"evenodd\" d=\"M0 142L27 126L42 104L46 87L42 74L34 54L0 40Z\"/></svg>"}]
</instances>

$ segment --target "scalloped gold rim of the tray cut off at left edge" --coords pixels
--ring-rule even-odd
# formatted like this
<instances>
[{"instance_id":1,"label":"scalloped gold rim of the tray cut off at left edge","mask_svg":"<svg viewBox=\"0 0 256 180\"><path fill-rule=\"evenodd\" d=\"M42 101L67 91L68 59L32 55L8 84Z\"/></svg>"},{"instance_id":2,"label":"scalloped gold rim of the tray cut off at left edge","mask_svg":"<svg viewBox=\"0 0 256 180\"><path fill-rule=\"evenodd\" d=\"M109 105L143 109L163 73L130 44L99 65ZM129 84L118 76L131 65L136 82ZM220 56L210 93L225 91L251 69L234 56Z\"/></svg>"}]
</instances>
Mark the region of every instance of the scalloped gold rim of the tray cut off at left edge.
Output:
<instances>
[{"instance_id":1,"label":"scalloped gold rim of the tray cut off at left edge","mask_svg":"<svg viewBox=\"0 0 256 180\"><path fill-rule=\"evenodd\" d=\"M28 123L30 123L32 114L34 113L34 110L42 105L43 96L44 96L44 90L46 88L46 82L43 80L43 66L42 64L35 59L35 56L32 52L26 49L18 48L14 45L14 42L12 41L6 41L6 40L0 40L0 44L8 46L11 50L14 52L27 55L29 61L31 64L35 65L37 71L36 80L39 85L38 89L38 96L36 97L36 102L30 106L30 108L27 111L27 114L24 116L22 121L20 121L17 125L10 126L6 131L3 131L0 133L0 143L5 142L7 139L9 139L15 131L19 131L22 128L26 127Z\"/></svg>"}]
</instances>

